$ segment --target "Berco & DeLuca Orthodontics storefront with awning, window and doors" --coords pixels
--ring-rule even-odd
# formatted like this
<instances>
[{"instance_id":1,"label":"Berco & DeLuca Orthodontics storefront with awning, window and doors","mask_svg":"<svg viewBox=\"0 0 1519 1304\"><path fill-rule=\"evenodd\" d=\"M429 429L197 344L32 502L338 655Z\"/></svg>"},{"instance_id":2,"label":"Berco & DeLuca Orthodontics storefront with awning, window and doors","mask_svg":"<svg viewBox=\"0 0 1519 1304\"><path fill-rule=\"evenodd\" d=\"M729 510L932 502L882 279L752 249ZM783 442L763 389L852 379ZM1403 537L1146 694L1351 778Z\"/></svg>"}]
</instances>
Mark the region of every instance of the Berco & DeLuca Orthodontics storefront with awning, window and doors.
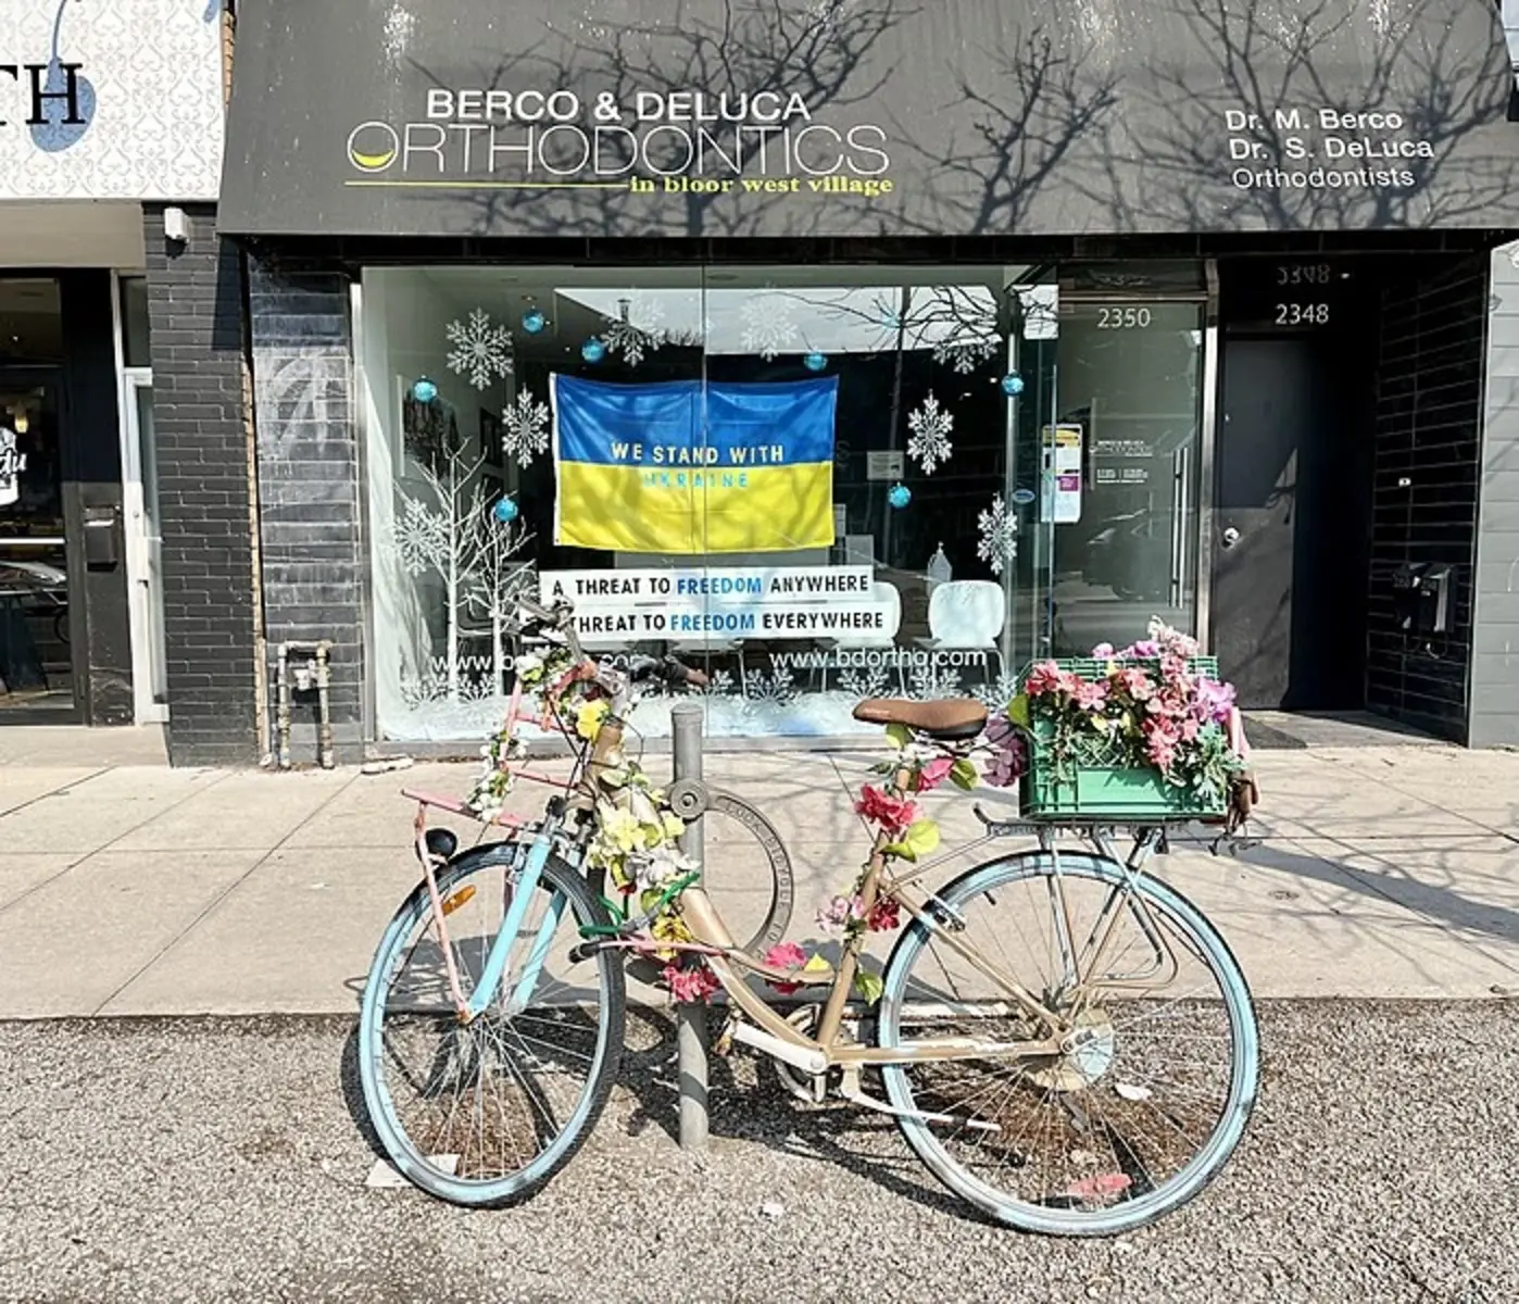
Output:
<instances>
[{"instance_id":1,"label":"Berco & DeLuca Orthodontics storefront with awning, window and doors","mask_svg":"<svg viewBox=\"0 0 1519 1304\"><path fill-rule=\"evenodd\" d=\"M1250 705L1464 736L1470 596L1393 590L1480 461L1490 5L372 14L245 5L222 196L266 626L349 748L485 733L523 588L705 664L735 742L1153 616Z\"/></svg>"}]
</instances>

